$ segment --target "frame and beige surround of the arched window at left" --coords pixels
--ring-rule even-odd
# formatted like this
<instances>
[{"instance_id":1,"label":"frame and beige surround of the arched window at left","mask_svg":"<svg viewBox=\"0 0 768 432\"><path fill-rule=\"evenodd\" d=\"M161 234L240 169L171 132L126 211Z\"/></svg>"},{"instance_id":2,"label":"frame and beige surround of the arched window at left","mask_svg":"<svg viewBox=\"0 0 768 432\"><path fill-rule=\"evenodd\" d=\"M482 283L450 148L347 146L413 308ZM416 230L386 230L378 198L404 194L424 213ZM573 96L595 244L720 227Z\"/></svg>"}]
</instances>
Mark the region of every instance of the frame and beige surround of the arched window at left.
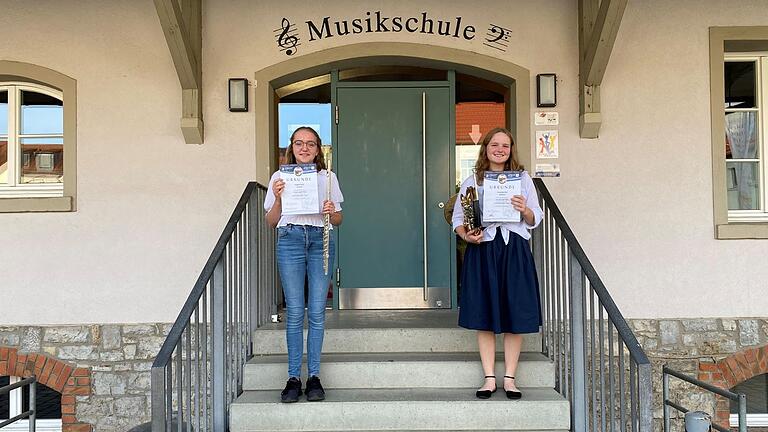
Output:
<instances>
[{"instance_id":1,"label":"frame and beige surround of the arched window at left","mask_svg":"<svg viewBox=\"0 0 768 432\"><path fill-rule=\"evenodd\" d=\"M60 97L56 97L63 102L64 116L64 183L56 187L60 192L57 191L55 194L41 193L40 191L46 187L39 185L35 187L13 186L13 196L10 196L10 193L0 195L0 213L75 211L77 202L77 82L60 72L42 66L0 60L0 83L3 86L15 83L14 85L28 86L33 91L47 89L46 91L60 93ZM10 104L10 99L9 97L9 112L14 109ZM12 124L8 125L9 136L13 127ZM14 145L10 140L8 144L9 147ZM9 163L11 163L11 153L9 149ZM50 188L51 186L47 187ZM4 189L8 192L11 188Z\"/></svg>"}]
</instances>

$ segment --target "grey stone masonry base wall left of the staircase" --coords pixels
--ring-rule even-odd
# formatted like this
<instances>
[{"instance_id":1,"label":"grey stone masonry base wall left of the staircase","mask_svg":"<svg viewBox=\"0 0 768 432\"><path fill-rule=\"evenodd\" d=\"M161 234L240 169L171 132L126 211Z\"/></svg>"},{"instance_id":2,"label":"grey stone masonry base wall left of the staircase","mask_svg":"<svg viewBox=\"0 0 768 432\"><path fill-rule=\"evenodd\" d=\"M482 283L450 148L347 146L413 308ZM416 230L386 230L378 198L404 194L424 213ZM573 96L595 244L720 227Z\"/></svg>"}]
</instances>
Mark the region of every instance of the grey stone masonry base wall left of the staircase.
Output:
<instances>
[{"instance_id":1,"label":"grey stone masonry base wall left of the staircase","mask_svg":"<svg viewBox=\"0 0 768 432\"><path fill-rule=\"evenodd\" d=\"M170 324L0 326L0 349L18 356L42 354L88 371L89 394L63 392L62 417L74 416L70 420L98 432L123 432L149 421L150 368L169 330ZM11 372L0 375L15 374ZM68 429L91 427L65 425Z\"/></svg>"}]
</instances>

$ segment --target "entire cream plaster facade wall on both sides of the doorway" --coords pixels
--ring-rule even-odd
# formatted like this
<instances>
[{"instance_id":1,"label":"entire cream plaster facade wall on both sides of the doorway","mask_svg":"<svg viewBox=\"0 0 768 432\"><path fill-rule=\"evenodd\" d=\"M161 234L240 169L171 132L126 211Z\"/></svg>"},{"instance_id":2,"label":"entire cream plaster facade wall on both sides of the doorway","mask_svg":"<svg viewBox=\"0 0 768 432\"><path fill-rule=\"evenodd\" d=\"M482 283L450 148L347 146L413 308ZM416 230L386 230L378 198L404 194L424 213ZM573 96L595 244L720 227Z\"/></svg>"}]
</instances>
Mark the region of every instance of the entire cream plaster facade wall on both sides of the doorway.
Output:
<instances>
[{"instance_id":1,"label":"entire cream plaster facade wall on both sides of the doorway","mask_svg":"<svg viewBox=\"0 0 768 432\"><path fill-rule=\"evenodd\" d=\"M297 55L419 42L498 56L532 77L557 73L563 177L547 183L625 315L764 316L768 242L713 238L708 27L768 25L765 2L630 2L597 140L578 136L576 4L207 0L206 142L195 146L181 136L181 92L152 2L0 0L0 58L78 82L78 211L0 214L2 303L9 292L35 299L3 307L0 323L172 321L254 175L262 108L229 113L227 78L287 58L272 32L282 17L303 25L375 10L461 15L478 38L493 22L513 30L510 48L402 32L305 41ZM533 90L535 80L532 107Z\"/></svg>"}]
</instances>

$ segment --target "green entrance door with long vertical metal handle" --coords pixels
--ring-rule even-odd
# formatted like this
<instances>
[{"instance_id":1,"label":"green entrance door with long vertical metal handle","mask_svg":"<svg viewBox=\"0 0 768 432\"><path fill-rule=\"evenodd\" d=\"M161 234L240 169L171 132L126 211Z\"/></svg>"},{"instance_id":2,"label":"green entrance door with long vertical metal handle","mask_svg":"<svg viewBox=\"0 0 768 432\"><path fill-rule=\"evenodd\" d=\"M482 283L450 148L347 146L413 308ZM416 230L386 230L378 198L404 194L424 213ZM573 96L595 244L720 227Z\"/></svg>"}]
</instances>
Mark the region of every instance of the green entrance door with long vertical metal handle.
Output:
<instances>
[{"instance_id":1,"label":"green entrance door with long vertical metal handle","mask_svg":"<svg viewBox=\"0 0 768 432\"><path fill-rule=\"evenodd\" d=\"M336 88L342 309L449 308L450 86Z\"/></svg>"}]
</instances>

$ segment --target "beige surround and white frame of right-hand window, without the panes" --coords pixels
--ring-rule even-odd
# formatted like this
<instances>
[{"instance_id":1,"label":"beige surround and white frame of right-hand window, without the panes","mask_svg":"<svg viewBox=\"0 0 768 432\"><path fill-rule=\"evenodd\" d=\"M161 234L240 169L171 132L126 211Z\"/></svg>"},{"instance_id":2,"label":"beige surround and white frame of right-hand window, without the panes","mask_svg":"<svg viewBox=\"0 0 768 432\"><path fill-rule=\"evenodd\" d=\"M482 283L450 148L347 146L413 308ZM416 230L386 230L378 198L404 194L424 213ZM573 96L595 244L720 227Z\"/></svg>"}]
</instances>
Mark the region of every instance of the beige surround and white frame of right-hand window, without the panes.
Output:
<instances>
[{"instance_id":1,"label":"beige surround and white frame of right-hand window, without the panes","mask_svg":"<svg viewBox=\"0 0 768 432\"><path fill-rule=\"evenodd\" d=\"M761 156L761 207L762 210L728 210L728 184L725 158L725 62L738 53L726 53L726 41L764 41L768 45L768 26L711 27L710 48L710 113L712 141L712 194L714 207L714 234L716 239L768 239L768 158L765 157L765 141L768 116L768 62L758 64L758 100L761 114L758 118ZM746 53L742 53L746 54ZM762 55L748 53L750 57ZM761 87L762 83L762 87Z\"/></svg>"}]
</instances>

